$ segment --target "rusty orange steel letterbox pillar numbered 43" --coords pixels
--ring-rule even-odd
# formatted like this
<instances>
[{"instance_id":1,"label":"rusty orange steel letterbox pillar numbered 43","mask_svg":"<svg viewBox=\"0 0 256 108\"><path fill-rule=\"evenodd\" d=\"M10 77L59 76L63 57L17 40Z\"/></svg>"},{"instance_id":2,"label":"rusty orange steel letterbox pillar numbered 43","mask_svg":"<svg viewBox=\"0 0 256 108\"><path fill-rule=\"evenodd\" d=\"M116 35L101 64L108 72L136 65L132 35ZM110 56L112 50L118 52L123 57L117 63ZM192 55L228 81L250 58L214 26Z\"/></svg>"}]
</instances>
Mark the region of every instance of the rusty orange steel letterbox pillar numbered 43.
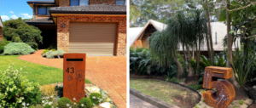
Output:
<instances>
[{"instance_id":1,"label":"rusty orange steel letterbox pillar numbered 43","mask_svg":"<svg viewBox=\"0 0 256 108\"><path fill-rule=\"evenodd\" d=\"M63 97L77 102L84 97L86 54L64 54ZM73 100L74 101L74 100Z\"/></svg>"}]
</instances>

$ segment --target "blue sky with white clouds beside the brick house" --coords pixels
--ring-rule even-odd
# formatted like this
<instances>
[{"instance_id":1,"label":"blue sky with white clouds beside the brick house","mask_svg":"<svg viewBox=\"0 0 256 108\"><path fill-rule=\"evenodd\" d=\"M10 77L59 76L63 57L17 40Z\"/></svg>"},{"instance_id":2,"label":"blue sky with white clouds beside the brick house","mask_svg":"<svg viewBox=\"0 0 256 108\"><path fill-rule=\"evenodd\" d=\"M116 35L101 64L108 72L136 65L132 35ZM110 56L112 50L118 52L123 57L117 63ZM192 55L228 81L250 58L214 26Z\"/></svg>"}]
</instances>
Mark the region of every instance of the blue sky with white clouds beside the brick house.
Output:
<instances>
[{"instance_id":1,"label":"blue sky with white clouds beside the brick house","mask_svg":"<svg viewBox=\"0 0 256 108\"><path fill-rule=\"evenodd\" d=\"M32 8L26 3L28 0L0 0L0 16L3 21L10 18L31 19Z\"/></svg>"}]
</instances>

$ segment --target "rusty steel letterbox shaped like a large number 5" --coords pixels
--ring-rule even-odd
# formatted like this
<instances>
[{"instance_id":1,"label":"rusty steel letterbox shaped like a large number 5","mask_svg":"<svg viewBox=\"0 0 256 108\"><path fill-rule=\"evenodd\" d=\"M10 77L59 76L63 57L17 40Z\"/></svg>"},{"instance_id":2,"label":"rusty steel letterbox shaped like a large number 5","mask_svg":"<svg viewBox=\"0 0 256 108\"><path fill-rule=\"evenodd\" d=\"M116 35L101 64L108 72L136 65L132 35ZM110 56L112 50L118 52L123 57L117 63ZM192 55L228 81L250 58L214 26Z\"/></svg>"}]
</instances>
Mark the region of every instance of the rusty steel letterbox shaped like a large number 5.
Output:
<instances>
[{"instance_id":1,"label":"rusty steel letterbox shaped like a large number 5","mask_svg":"<svg viewBox=\"0 0 256 108\"><path fill-rule=\"evenodd\" d=\"M203 88L216 88L218 92L207 90L203 98L214 108L225 108L235 99L236 93L232 84L225 79L232 77L232 68L208 66L205 68Z\"/></svg>"}]
</instances>

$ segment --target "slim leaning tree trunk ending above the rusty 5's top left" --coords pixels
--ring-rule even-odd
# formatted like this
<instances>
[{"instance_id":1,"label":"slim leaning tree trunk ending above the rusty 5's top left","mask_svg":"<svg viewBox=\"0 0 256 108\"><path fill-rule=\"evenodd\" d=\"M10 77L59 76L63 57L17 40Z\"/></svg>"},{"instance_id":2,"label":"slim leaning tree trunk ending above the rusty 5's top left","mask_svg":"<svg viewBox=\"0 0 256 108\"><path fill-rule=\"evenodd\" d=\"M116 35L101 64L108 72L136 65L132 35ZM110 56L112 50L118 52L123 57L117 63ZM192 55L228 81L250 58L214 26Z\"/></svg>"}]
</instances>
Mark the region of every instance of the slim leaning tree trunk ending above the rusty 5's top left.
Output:
<instances>
[{"instance_id":1,"label":"slim leaning tree trunk ending above the rusty 5's top left","mask_svg":"<svg viewBox=\"0 0 256 108\"><path fill-rule=\"evenodd\" d=\"M208 31L209 31L209 39L210 39L210 47L211 47L211 55L210 56L210 60L211 60L211 64L213 65L213 47L212 47L212 31L211 31L211 20L210 20L210 14L209 14L209 7L208 7L208 0L206 0L207 2L207 20L208 20Z\"/></svg>"}]
</instances>

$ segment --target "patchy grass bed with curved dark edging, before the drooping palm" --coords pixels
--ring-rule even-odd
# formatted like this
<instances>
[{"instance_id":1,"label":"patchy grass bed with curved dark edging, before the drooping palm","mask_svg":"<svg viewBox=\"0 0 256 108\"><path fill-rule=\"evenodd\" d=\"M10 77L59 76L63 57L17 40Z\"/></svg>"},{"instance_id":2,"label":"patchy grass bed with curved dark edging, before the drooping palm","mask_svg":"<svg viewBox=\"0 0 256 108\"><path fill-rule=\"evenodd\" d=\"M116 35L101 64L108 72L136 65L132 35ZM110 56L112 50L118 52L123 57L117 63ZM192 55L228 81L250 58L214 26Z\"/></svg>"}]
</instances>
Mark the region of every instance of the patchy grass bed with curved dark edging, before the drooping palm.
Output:
<instances>
[{"instance_id":1,"label":"patchy grass bed with curved dark edging, before the drooping palm","mask_svg":"<svg viewBox=\"0 0 256 108\"><path fill-rule=\"evenodd\" d=\"M166 103L191 108L200 101L201 95L177 83L150 78L130 78L130 87Z\"/></svg>"}]
</instances>

